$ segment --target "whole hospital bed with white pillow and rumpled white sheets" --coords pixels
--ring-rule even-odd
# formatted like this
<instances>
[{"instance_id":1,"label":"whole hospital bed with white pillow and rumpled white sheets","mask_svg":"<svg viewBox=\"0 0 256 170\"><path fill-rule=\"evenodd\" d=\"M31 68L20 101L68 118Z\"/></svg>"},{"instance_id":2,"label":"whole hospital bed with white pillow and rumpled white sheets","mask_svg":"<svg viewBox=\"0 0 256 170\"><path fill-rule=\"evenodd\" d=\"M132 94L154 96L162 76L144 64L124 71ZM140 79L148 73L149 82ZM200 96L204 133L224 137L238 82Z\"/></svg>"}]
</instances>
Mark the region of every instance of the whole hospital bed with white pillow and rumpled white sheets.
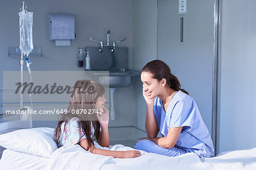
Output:
<instances>
[{"instance_id":1,"label":"whole hospital bed with white pillow and rumpled white sheets","mask_svg":"<svg viewBox=\"0 0 256 170\"><path fill-rule=\"evenodd\" d=\"M117 159L91 154L79 145L57 148L52 128L32 128L31 121L0 124L0 145L5 147L1 169L256 169L256 148L222 152L214 158L199 158L194 153L176 157L141 151L134 159ZM110 148L126 151L131 147Z\"/></svg>"}]
</instances>

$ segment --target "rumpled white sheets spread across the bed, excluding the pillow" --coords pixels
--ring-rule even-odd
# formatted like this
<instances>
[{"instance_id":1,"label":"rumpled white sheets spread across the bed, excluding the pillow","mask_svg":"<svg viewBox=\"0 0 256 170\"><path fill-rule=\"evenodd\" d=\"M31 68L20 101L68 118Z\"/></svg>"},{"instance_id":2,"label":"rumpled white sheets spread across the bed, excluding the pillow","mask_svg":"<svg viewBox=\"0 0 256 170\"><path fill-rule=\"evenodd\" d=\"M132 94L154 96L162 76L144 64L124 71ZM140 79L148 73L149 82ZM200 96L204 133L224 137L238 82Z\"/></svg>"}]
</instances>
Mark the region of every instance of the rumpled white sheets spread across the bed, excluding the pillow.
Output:
<instances>
[{"instance_id":1,"label":"rumpled white sheets spread across the bed, excluding the pillow","mask_svg":"<svg viewBox=\"0 0 256 170\"><path fill-rule=\"evenodd\" d=\"M108 148L105 148L108 149ZM114 145L110 150L125 151L133 148ZM199 158L188 153L169 157L142 151L134 159L115 159L111 156L91 154L79 145L59 148L51 157L44 158L22 152L5 150L0 160L0 169L256 169L256 148L222 152L214 158Z\"/></svg>"}]
</instances>

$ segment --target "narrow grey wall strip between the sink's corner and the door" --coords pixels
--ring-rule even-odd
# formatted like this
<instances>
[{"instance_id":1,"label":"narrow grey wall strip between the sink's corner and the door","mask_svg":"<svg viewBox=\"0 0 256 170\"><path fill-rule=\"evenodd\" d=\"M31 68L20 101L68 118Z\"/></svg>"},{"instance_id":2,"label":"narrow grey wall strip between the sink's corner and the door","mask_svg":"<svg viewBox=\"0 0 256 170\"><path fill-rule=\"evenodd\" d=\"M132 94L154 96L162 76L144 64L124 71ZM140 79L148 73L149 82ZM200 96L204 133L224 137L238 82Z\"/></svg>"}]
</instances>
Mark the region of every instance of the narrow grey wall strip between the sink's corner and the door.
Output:
<instances>
[{"instance_id":1,"label":"narrow grey wall strip between the sink's corner and the door","mask_svg":"<svg viewBox=\"0 0 256 170\"><path fill-rule=\"evenodd\" d=\"M133 0L133 61L134 69L141 70L157 56L157 1ZM137 112L134 124L144 129L146 103L142 95L141 77L134 78Z\"/></svg>"}]
</instances>

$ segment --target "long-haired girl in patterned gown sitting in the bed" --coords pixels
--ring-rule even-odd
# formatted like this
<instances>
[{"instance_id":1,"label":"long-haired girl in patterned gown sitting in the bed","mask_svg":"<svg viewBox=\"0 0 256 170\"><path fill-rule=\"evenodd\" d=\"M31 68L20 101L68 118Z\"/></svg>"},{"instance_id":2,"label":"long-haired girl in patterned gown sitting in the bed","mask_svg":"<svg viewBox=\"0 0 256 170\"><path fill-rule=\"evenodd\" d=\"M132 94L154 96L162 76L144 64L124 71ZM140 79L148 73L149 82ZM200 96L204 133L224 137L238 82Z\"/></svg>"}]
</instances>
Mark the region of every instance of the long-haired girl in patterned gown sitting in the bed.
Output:
<instances>
[{"instance_id":1,"label":"long-haired girl in patterned gown sitting in the bed","mask_svg":"<svg viewBox=\"0 0 256 170\"><path fill-rule=\"evenodd\" d=\"M105 106L104 87L90 80L77 81L67 112L55 129L54 141L59 147L80 145L93 154L113 156L114 158L136 158L139 151L110 151L94 147L98 142L102 147L109 147L109 112Z\"/></svg>"}]
</instances>

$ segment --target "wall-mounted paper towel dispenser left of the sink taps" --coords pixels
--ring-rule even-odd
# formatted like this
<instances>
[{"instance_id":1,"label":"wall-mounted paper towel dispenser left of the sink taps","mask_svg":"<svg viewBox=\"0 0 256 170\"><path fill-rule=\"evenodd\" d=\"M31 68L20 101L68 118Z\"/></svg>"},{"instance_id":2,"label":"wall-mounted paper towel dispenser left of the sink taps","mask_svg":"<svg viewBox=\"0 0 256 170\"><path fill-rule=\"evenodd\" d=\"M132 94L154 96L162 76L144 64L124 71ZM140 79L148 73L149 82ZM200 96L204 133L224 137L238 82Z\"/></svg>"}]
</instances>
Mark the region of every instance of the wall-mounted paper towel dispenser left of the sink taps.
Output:
<instances>
[{"instance_id":1,"label":"wall-mounted paper towel dispenser left of the sink taps","mask_svg":"<svg viewBox=\"0 0 256 170\"><path fill-rule=\"evenodd\" d=\"M75 39L75 17L71 14L48 14L48 39L56 46L70 46Z\"/></svg>"}]
</instances>

